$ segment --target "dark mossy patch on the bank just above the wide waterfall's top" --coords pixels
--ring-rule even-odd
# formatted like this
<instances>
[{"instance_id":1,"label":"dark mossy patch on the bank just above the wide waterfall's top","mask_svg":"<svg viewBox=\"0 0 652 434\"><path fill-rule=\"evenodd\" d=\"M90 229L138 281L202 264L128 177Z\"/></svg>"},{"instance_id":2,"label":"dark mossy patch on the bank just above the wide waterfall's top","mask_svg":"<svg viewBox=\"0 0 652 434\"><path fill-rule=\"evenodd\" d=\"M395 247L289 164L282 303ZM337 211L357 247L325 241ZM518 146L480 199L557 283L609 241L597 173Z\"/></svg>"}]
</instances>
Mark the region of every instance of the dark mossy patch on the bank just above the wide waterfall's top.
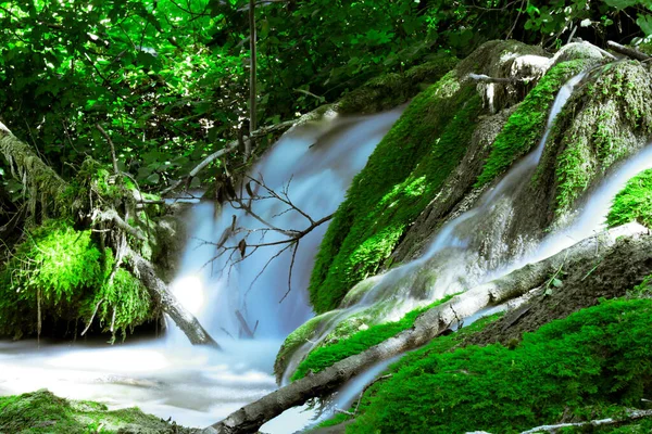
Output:
<instances>
[{"instance_id":1,"label":"dark mossy patch on the bank just above the wide waterfall's top","mask_svg":"<svg viewBox=\"0 0 652 434\"><path fill-rule=\"evenodd\" d=\"M393 108L418 93L421 84L439 80L456 62L456 59L446 54L405 73L390 73L374 78L343 95L337 104L337 111L342 114L367 114Z\"/></svg>"}]
</instances>

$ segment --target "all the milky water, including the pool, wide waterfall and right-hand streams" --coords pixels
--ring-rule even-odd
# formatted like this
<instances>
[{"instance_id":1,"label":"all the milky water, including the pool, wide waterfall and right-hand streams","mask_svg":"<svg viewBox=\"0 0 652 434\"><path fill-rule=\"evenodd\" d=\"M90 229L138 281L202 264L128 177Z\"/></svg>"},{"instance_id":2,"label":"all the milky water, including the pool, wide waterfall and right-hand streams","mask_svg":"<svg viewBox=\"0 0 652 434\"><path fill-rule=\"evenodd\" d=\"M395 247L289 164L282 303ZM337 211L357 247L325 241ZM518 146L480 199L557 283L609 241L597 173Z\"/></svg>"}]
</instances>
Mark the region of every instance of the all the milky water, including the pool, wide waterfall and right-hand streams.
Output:
<instances>
[{"instance_id":1,"label":"all the milky water, including the pool, wide waterfall and right-hand streams","mask_svg":"<svg viewBox=\"0 0 652 434\"><path fill-rule=\"evenodd\" d=\"M344 301L346 307L334 316L321 339L339 320L364 314L380 301L392 304L387 319L398 319L414 307L548 257L601 229L613 196L629 178L652 167L652 146L612 170L572 222L537 243L527 255L514 258L498 251L492 260L487 260L478 253L482 240L474 235L478 227L491 228L482 233L500 243L502 222L510 216L514 197L536 170L554 118L581 78L572 78L559 92L537 149L486 192L475 208L444 225L421 258L354 288ZM240 252L227 251L220 256L217 245L229 228L255 230L247 241L248 255L256 243L287 238L287 232L265 230L268 225L261 219L280 230L301 230L311 225L311 219L334 213L353 176L364 167L401 112L326 116L286 133L261 159L250 176L276 192L286 192L288 202L305 215L276 199L252 201L255 215L230 205L218 208L209 201L198 201L190 207L186 215L190 239L172 288L224 352L190 346L174 326L165 337L128 340L114 346L93 340L75 344L41 341L40 345L30 341L0 342L0 394L47 387L72 399L100 400L111 408L137 405L183 425L206 426L275 390L272 368L283 340L314 315L305 289L326 225L302 238L294 255L291 248L276 256L278 247L261 247L233 267L228 255L236 253L237 261ZM259 188L256 195L265 196L264 189ZM224 245L235 246L244 235L240 231ZM244 339L249 333L254 339ZM290 367L296 367L313 345L306 343L300 348ZM393 360L371 367L324 408L290 409L261 431L292 433L329 417L334 407L347 408Z\"/></svg>"}]
</instances>

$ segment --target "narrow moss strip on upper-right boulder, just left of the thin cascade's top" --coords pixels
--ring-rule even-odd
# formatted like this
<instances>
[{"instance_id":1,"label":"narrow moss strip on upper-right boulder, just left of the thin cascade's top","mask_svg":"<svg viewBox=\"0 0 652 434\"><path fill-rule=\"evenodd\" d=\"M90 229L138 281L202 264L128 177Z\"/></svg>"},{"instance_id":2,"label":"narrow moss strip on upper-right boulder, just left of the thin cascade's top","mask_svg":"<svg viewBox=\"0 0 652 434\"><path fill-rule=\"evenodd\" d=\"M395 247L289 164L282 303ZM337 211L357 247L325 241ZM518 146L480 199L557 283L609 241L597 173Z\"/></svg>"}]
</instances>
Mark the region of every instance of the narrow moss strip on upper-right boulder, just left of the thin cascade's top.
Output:
<instances>
[{"instance_id":1,"label":"narrow moss strip on upper-right boulder, just left of the thin cascade's top","mask_svg":"<svg viewBox=\"0 0 652 434\"><path fill-rule=\"evenodd\" d=\"M570 77L585 69L588 62L575 60L560 63L541 78L496 138L476 187L491 182L539 143L560 88Z\"/></svg>"}]
</instances>

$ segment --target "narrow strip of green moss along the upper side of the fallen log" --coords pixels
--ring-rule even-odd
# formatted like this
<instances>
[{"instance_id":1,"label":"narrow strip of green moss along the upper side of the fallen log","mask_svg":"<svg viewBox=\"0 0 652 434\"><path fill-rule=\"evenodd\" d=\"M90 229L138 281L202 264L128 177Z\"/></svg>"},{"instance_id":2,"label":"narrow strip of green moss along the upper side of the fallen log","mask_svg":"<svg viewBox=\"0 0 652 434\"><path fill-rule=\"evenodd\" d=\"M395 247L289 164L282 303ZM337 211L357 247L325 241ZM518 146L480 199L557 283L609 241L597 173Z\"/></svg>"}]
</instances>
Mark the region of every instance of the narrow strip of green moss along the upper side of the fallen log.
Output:
<instances>
[{"instance_id":1,"label":"narrow strip of green moss along the upper side of the fallen log","mask_svg":"<svg viewBox=\"0 0 652 434\"><path fill-rule=\"evenodd\" d=\"M424 306L405 314L405 316L399 321L372 326L366 330L356 331L348 339L340 340L339 342L314 349L297 367L297 370L292 375L292 381L302 379L310 371L314 373L323 371L329 366L346 359L347 357L360 354L374 345L378 345L379 343L396 336L403 330L410 329L421 314L435 306L446 303L451 298L452 295L449 295L428 306Z\"/></svg>"}]
</instances>

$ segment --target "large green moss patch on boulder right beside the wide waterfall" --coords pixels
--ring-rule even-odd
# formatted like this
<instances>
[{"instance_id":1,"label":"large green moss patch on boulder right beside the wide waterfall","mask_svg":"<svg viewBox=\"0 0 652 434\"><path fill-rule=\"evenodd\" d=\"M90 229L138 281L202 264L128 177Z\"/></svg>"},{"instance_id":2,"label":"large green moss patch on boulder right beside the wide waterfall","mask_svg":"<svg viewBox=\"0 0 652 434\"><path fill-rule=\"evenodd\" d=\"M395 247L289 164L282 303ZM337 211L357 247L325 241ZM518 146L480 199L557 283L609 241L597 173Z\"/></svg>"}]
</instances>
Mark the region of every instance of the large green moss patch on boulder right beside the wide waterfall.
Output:
<instances>
[{"instance_id":1,"label":"large green moss patch on boulder right beside the wide waterfall","mask_svg":"<svg viewBox=\"0 0 652 434\"><path fill-rule=\"evenodd\" d=\"M462 159L480 113L475 86L461 85L456 72L412 101L328 227L310 284L317 312L378 270Z\"/></svg>"}]
</instances>

